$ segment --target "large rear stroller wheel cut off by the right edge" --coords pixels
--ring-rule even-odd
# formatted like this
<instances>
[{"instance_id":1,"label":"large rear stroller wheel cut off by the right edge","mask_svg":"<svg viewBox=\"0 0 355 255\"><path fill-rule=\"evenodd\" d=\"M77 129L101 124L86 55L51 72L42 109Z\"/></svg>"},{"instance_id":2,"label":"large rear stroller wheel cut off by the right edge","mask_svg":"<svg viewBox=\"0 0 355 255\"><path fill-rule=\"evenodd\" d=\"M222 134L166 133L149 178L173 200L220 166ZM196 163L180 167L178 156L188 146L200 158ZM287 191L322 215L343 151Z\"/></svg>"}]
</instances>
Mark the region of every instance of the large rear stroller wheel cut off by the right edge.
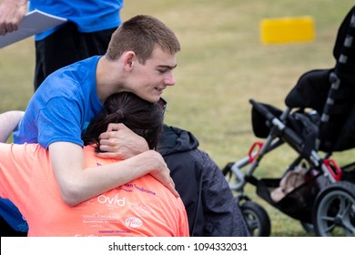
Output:
<instances>
[{"instance_id":1,"label":"large rear stroller wheel cut off by the right edge","mask_svg":"<svg viewBox=\"0 0 355 255\"><path fill-rule=\"evenodd\" d=\"M320 191L312 211L316 236L355 237L355 185L340 181Z\"/></svg>"}]
</instances>

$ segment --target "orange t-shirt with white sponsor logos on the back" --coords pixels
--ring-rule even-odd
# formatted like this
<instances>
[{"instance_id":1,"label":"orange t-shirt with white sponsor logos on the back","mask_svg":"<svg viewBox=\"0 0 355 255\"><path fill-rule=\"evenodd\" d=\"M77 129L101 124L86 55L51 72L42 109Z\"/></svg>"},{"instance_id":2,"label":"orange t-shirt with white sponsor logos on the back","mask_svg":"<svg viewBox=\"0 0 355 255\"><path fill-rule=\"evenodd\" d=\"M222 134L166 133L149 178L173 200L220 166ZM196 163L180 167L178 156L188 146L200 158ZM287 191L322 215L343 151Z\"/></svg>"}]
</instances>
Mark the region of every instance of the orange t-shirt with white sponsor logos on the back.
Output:
<instances>
[{"instance_id":1,"label":"orange t-shirt with white sponsor logos on the back","mask_svg":"<svg viewBox=\"0 0 355 255\"><path fill-rule=\"evenodd\" d=\"M85 147L86 167L116 162ZM15 203L28 236L188 236L181 199L150 175L75 207L61 199L48 152L37 144L0 144L0 196Z\"/></svg>"}]
</instances>

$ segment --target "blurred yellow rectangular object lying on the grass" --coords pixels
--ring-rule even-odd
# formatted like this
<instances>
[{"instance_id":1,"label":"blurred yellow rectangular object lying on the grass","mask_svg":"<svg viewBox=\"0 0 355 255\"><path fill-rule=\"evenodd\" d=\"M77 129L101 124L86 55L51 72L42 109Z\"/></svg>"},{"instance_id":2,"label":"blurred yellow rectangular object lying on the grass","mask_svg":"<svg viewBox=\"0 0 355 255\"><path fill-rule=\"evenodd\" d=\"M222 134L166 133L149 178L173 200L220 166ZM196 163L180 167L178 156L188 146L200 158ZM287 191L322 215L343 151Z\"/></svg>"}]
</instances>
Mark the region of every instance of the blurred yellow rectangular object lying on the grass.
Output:
<instances>
[{"instance_id":1,"label":"blurred yellow rectangular object lying on the grass","mask_svg":"<svg viewBox=\"0 0 355 255\"><path fill-rule=\"evenodd\" d=\"M315 38L314 20L311 16L263 19L260 34L264 44L312 41Z\"/></svg>"}]
</instances>

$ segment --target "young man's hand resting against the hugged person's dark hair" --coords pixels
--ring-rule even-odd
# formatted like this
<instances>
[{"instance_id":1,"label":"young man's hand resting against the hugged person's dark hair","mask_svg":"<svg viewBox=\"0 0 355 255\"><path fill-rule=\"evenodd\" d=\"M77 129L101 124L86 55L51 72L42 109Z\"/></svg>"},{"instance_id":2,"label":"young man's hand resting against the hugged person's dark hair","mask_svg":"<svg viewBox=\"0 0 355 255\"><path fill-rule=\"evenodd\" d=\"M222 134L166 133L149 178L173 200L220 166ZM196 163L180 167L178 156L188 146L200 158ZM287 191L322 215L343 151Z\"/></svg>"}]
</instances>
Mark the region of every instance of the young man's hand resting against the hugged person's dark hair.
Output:
<instances>
[{"instance_id":1,"label":"young man's hand resting against the hugged person's dark hair","mask_svg":"<svg viewBox=\"0 0 355 255\"><path fill-rule=\"evenodd\" d=\"M149 148L145 138L138 136L122 123L111 123L105 133L99 136L100 158L127 159L136 156Z\"/></svg>"}]
</instances>

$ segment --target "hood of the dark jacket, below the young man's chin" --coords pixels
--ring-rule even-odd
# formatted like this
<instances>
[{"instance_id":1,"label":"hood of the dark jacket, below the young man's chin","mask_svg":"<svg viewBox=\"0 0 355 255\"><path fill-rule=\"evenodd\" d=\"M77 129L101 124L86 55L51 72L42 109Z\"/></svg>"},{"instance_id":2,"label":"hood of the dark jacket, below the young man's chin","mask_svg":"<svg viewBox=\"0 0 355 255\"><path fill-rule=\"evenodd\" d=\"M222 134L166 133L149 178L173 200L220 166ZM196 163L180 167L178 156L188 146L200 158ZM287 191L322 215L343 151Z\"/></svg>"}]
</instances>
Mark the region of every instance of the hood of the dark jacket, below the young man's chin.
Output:
<instances>
[{"instance_id":1,"label":"hood of the dark jacket, below the young man's chin","mask_svg":"<svg viewBox=\"0 0 355 255\"><path fill-rule=\"evenodd\" d=\"M157 151L162 156L198 148L198 139L189 131L164 125L157 144Z\"/></svg>"}]
</instances>

